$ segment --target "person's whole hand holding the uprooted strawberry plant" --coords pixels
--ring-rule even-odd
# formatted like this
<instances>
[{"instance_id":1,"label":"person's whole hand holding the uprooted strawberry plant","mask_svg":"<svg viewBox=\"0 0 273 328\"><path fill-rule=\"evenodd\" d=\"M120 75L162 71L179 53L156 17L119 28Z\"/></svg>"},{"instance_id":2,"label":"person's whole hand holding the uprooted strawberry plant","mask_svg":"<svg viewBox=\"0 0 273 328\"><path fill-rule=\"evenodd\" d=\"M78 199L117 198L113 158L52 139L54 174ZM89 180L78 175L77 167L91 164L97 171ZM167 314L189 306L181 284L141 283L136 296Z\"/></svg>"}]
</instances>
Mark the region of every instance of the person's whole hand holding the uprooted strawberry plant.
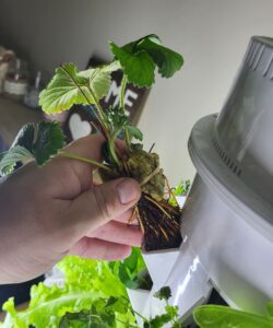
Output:
<instances>
[{"instance_id":1,"label":"person's whole hand holding the uprooted strawberry plant","mask_svg":"<svg viewBox=\"0 0 273 328\"><path fill-rule=\"evenodd\" d=\"M72 143L70 153L100 160L103 138ZM28 163L0 184L0 283L37 277L67 254L120 259L141 244L128 226L141 190L130 178L94 186L95 167L56 157L38 168Z\"/></svg>"}]
</instances>

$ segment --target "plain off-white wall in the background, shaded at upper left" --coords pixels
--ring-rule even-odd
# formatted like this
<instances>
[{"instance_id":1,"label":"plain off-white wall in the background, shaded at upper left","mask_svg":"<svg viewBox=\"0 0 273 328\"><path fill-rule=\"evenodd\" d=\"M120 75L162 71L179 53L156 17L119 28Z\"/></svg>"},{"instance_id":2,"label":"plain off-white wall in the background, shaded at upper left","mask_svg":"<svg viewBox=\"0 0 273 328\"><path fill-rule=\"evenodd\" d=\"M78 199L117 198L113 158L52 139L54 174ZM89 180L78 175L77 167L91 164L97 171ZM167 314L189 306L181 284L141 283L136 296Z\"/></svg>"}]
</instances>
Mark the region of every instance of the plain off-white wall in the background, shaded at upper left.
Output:
<instances>
[{"instance_id":1,"label":"plain off-white wall in the background, shaded at upper left","mask_svg":"<svg viewBox=\"0 0 273 328\"><path fill-rule=\"evenodd\" d=\"M156 141L176 184L194 174L187 150L192 125L221 109L250 36L272 36L273 1L0 1L0 43L47 73L66 61L84 68L94 52L109 59L108 39L122 45L150 33L186 61L171 80L157 79L140 121L146 148Z\"/></svg>"}]
</instances>

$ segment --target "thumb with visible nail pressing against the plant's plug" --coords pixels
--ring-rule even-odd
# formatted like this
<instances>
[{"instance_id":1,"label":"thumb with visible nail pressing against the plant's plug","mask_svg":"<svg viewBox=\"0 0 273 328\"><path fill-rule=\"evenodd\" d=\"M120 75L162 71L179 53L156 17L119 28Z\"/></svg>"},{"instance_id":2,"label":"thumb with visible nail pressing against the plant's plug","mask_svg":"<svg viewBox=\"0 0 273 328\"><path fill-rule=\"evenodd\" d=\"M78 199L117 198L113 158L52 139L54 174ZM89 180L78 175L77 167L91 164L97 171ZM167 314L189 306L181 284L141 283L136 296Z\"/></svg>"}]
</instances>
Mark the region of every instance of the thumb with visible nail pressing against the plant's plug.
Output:
<instances>
[{"instance_id":1,"label":"thumb with visible nail pressing against the plant's plug","mask_svg":"<svg viewBox=\"0 0 273 328\"><path fill-rule=\"evenodd\" d=\"M67 213L73 239L118 218L134 206L140 196L140 185L132 178L115 179L85 191L72 201Z\"/></svg>"}]
</instances>

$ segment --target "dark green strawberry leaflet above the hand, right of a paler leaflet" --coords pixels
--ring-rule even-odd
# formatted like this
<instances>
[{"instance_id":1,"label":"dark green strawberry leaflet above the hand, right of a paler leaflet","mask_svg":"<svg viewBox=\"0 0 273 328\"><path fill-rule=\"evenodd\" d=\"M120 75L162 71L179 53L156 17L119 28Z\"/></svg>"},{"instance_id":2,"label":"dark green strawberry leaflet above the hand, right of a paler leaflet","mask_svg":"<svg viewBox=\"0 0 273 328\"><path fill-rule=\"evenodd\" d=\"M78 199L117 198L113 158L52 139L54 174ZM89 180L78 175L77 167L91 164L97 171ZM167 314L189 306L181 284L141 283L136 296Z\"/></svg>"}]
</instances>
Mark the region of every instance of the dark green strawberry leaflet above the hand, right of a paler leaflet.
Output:
<instances>
[{"instance_id":1,"label":"dark green strawberry leaflet above the hand, right of a paler leaflet","mask_svg":"<svg viewBox=\"0 0 273 328\"><path fill-rule=\"evenodd\" d=\"M64 136L58 122L38 124L36 142L33 152L38 165L44 165L64 147Z\"/></svg>"}]
</instances>

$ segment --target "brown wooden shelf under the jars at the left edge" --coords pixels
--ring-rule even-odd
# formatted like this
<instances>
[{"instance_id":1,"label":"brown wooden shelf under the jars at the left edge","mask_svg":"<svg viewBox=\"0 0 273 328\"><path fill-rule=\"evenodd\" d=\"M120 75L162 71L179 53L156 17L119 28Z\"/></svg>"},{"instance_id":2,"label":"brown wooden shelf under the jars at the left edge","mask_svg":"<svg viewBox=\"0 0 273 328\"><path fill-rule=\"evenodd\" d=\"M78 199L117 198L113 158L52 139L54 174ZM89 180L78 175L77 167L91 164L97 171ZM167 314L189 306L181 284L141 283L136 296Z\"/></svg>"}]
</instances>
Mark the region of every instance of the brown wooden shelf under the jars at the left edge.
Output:
<instances>
[{"instance_id":1,"label":"brown wooden shelf under the jars at the left edge","mask_svg":"<svg viewBox=\"0 0 273 328\"><path fill-rule=\"evenodd\" d=\"M40 120L43 120L41 113L0 96L0 136L7 145L12 144L23 125Z\"/></svg>"}]
</instances>

